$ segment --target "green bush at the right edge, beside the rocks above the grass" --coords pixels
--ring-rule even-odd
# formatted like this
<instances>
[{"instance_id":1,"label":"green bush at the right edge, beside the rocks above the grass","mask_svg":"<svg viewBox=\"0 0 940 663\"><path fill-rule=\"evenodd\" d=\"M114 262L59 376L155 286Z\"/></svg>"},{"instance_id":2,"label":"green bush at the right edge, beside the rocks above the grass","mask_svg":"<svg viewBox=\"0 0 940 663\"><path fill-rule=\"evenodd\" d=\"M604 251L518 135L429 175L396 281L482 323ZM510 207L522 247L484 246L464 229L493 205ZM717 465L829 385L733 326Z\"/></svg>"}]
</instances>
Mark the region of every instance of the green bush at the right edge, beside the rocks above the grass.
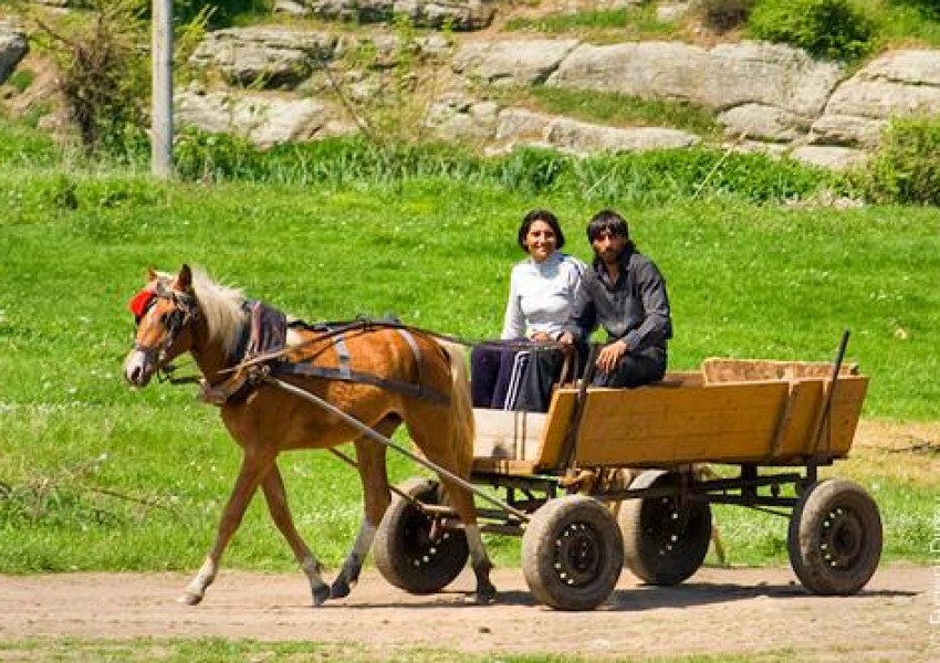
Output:
<instances>
[{"instance_id":1,"label":"green bush at the right edge, beside the rocks above the grass","mask_svg":"<svg viewBox=\"0 0 940 663\"><path fill-rule=\"evenodd\" d=\"M857 175L874 202L940 206L940 118L895 119Z\"/></svg>"}]
</instances>

